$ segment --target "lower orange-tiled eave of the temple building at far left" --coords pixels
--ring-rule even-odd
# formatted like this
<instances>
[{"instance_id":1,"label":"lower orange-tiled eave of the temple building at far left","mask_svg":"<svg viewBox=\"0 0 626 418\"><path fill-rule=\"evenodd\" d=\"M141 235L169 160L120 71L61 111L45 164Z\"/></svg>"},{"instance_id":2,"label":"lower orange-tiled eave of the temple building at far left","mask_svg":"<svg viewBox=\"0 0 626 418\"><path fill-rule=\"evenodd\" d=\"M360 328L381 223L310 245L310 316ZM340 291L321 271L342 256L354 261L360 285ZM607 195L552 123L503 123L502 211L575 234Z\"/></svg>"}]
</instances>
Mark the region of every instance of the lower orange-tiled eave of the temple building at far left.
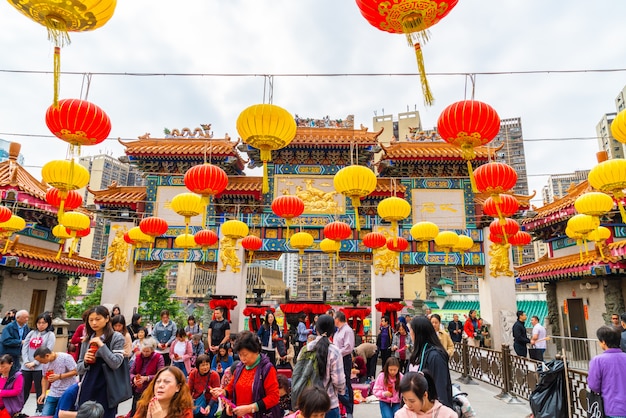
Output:
<instances>
[{"instance_id":1,"label":"lower orange-tiled eave of the temple building at far left","mask_svg":"<svg viewBox=\"0 0 626 418\"><path fill-rule=\"evenodd\" d=\"M2 245L4 242L3 240ZM7 257L17 257L15 266L17 268L81 276L95 276L104 262L104 260L93 260L77 255L68 258L67 253L62 253L57 260L56 255L56 251L22 244L18 239L15 239L9 242L8 249L3 254L2 262L6 263Z\"/></svg>"}]
</instances>

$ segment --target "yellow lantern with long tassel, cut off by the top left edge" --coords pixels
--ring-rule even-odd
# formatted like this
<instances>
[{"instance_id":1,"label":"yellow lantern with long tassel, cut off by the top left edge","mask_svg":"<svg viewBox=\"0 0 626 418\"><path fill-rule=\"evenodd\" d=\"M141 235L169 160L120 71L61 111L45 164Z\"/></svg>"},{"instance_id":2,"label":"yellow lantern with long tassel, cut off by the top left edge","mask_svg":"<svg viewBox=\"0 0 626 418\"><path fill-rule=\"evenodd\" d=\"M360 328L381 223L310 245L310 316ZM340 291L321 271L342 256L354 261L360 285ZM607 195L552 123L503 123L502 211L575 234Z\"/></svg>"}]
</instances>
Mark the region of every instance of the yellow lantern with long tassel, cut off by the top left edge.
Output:
<instances>
[{"instance_id":1,"label":"yellow lantern with long tassel, cut off by the top left edge","mask_svg":"<svg viewBox=\"0 0 626 418\"><path fill-rule=\"evenodd\" d=\"M111 19L116 0L9 0L24 16L45 26L54 42L54 105L59 98L61 47L70 43L68 32L98 29Z\"/></svg>"}]
</instances>

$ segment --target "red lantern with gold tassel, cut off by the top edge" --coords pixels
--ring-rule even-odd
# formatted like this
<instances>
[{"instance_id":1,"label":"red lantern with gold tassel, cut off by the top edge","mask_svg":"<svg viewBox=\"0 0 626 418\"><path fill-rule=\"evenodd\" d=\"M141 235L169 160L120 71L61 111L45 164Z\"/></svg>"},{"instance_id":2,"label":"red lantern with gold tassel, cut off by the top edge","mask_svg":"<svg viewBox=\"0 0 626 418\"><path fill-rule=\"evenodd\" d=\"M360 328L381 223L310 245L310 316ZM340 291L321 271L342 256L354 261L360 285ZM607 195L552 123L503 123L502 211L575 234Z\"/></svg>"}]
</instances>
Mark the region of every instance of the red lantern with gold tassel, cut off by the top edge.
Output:
<instances>
[{"instance_id":1,"label":"red lantern with gold tassel, cut off by the top edge","mask_svg":"<svg viewBox=\"0 0 626 418\"><path fill-rule=\"evenodd\" d=\"M375 28L406 35L415 50L424 102L434 101L424 67L421 43L428 40L428 28L437 24L456 6L458 0L356 0L363 17Z\"/></svg>"}]
</instances>

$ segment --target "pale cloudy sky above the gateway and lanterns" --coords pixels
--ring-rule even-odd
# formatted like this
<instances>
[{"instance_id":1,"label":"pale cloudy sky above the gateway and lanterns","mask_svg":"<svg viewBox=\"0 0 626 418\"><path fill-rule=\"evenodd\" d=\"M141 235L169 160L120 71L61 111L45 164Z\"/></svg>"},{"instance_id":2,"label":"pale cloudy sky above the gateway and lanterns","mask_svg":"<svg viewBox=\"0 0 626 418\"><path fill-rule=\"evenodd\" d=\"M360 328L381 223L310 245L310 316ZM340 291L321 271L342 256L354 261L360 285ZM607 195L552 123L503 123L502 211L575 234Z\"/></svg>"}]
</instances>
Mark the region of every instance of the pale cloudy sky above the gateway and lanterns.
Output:
<instances>
[{"instance_id":1,"label":"pale cloudy sky above the gateway and lanterns","mask_svg":"<svg viewBox=\"0 0 626 418\"><path fill-rule=\"evenodd\" d=\"M432 129L446 106L471 97L466 74L477 74L474 98L522 120L541 206L548 174L596 164L595 127L615 112L626 71L583 70L626 69L624 16L619 0L460 0L423 46L435 97L426 107L418 76L398 75L417 71L404 36L371 26L354 0L120 0L106 25L71 34L61 69L75 74L62 75L60 97L88 92L111 118L111 139L82 155L120 156L115 138L162 137L164 128L210 123L215 138L236 138L239 113L264 100L263 75L273 75L274 104L301 117L354 114L371 129L375 114L418 110ZM8 2L0 27L0 138L20 142L40 178L67 154L45 125L53 45Z\"/></svg>"}]
</instances>

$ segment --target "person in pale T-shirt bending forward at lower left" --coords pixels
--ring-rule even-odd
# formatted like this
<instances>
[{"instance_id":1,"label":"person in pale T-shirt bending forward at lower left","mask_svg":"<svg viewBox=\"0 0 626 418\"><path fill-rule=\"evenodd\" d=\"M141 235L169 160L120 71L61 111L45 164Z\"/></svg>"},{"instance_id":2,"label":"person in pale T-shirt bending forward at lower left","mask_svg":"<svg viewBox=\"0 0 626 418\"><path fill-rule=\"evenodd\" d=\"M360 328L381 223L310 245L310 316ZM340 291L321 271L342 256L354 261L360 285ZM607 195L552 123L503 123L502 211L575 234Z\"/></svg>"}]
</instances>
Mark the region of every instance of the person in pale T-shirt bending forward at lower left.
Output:
<instances>
[{"instance_id":1,"label":"person in pale T-shirt bending forward at lower left","mask_svg":"<svg viewBox=\"0 0 626 418\"><path fill-rule=\"evenodd\" d=\"M34 357L43 365L42 373L45 376L41 382L43 392L37 397L37 406L43 407L39 411L41 415L52 416L63 393L76 383L76 362L71 355L53 352L48 347L39 347Z\"/></svg>"}]
</instances>

